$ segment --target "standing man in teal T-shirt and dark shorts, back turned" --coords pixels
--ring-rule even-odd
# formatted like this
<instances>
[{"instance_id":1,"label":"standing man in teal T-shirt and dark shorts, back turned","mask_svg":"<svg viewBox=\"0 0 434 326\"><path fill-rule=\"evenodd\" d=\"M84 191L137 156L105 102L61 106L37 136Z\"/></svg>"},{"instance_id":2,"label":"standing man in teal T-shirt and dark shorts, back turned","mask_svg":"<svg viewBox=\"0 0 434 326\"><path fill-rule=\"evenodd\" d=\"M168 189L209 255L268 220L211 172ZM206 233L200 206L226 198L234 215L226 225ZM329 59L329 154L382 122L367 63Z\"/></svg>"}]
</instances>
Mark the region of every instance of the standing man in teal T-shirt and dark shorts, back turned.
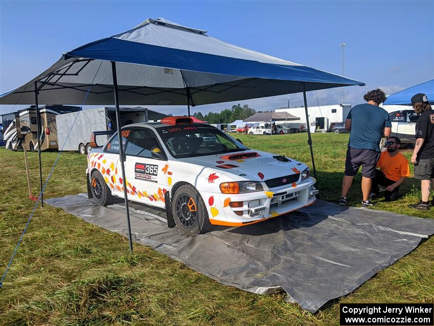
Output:
<instances>
[{"instance_id":1,"label":"standing man in teal T-shirt and dark shorts, back turned","mask_svg":"<svg viewBox=\"0 0 434 326\"><path fill-rule=\"evenodd\" d=\"M363 201L361 207L373 204L369 200L372 178L375 177L375 167L380 158L381 137L389 137L392 123L389 113L379 105L386 100L384 92L377 88L363 97L367 104L354 106L348 113L345 128L350 130L347 159L345 161L345 176L342 180L342 196L340 205L347 204L347 194L354 176L361 166L361 192Z\"/></svg>"}]
</instances>

